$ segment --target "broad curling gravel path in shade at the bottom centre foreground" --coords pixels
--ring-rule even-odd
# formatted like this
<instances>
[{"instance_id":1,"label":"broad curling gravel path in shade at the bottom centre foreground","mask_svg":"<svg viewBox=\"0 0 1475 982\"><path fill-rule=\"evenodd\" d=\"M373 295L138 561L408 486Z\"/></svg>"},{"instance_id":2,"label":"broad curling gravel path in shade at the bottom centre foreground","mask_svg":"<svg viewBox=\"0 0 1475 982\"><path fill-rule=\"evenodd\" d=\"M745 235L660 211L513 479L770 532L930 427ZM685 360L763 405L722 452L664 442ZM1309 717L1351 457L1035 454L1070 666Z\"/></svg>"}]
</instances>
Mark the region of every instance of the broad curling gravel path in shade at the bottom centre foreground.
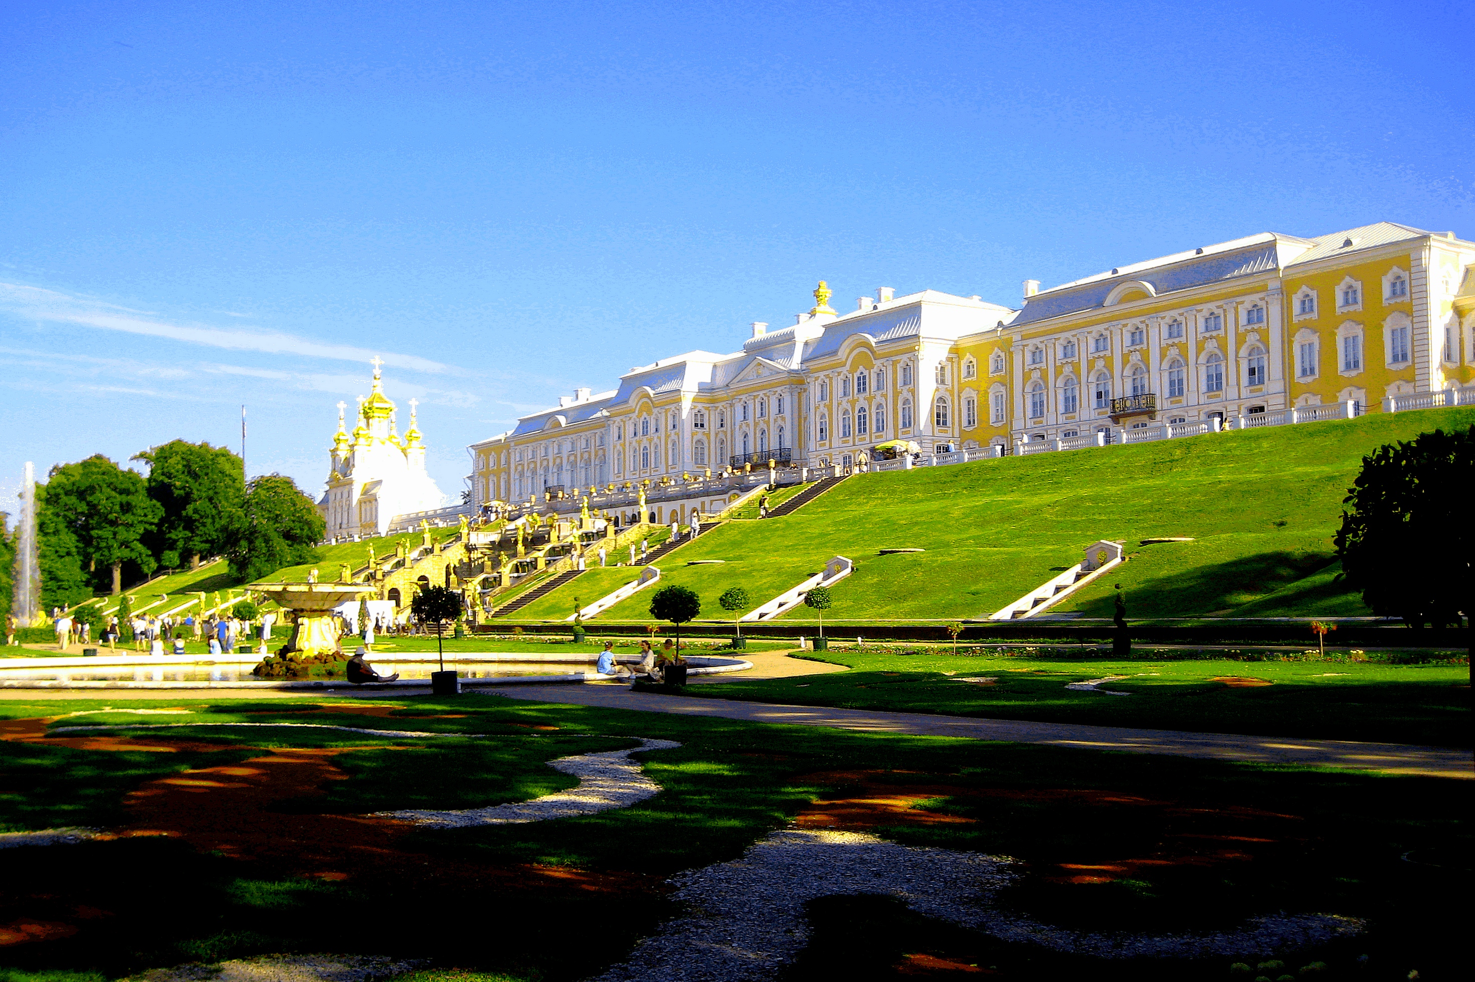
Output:
<instances>
[{"instance_id":1,"label":"broad curling gravel path in shade at the bottom centre foreground","mask_svg":"<svg viewBox=\"0 0 1475 982\"><path fill-rule=\"evenodd\" d=\"M740 860L683 873L676 899L692 911L661 926L599 982L771 979L808 944L805 904L820 896L889 894L929 917L1105 958L1257 955L1357 933L1361 922L1323 914L1261 917L1239 930L1097 935L1049 927L993 907L1012 861L903 846L857 832L785 829Z\"/></svg>"}]
</instances>

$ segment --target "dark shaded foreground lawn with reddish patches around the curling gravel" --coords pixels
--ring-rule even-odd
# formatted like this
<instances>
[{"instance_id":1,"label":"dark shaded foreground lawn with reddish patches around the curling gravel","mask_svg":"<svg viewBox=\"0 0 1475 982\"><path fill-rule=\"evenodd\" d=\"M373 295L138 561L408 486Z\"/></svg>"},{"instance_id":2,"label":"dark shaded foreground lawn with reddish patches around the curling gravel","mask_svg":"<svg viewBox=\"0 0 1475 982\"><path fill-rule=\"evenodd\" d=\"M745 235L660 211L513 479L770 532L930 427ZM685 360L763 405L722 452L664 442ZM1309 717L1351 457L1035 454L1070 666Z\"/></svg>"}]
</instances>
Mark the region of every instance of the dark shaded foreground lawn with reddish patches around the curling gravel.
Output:
<instances>
[{"instance_id":1,"label":"dark shaded foreground lawn with reddish patches around the curling gravel","mask_svg":"<svg viewBox=\"0 0 1475 982\"><path fill-rule=\"evenodd\" d=\"M153 721L117 712L158 702L111 699L0 703L0 718L63 715L58 725ZM311 700L180 700L162 717L186 725L153 739L215 751L181 753L0 745L0 823L109 826L122 796L186 767L240 767L266 748L347 749L322 793L277 801L277 849L196 851L150 836L7 851L0 924L52 924L50 939L7 944L7 982L102 982L184 961L261 953L432 958L515 979L597 975L678 914L664 879L739 857L801 809L876 793L910 795L872 832L906 845L1015 857L1007 910L1044 923L1127 930L1212 930L1276 911L1369 920L1350 942L1295 954L1291 969L1326 961L1336 975L1367 955L1382 975L1444 978L1463 955L1460 864L1468 855L1469 781L1260 767L1220 761L779 727L494 696L403 699L369 736L302 728L243 731L218 722L366 725L361 715L304 715ZM75 715L87 714L91 715ZM167 734L167 736L164 736ZM419 830L395 849L364 848L347 866L317 858L330 843L314 823L384 808L463 808L547 793L569 783L543 761L630 746L662 792L631 808L522 826ZM249 770L251 765L246 767ZM261 764L255 764L261 768ZM270 765L288 767L286 764ZM195 801L208 807L202 789ZM350 836L369 823L341 823ZM1162 861L1170 857L1170 861ZM1415 861L1403 861L1413 857ZM342 863L342 860L336 860ZM322 868L339 870L333 877ZM1087 870L1092 876L1080 876ZM344 879L347 876L347 879ZM614 913L612 913L614 911ZM568 944L597 924L599 944ZM1006 979L1229 979L1229 958L1096 961L1004 944L912 914L876 896L810 908L810 948L792 978L820 966L847 978L894 978L909 954L982 964ZM68 973L93 973L74 976ZM434 978L441 978L440 975ZM456 978L456 976L448 976ZM1248 978L1248 976L1246 976Z\"/></svg>"}]
</instances>

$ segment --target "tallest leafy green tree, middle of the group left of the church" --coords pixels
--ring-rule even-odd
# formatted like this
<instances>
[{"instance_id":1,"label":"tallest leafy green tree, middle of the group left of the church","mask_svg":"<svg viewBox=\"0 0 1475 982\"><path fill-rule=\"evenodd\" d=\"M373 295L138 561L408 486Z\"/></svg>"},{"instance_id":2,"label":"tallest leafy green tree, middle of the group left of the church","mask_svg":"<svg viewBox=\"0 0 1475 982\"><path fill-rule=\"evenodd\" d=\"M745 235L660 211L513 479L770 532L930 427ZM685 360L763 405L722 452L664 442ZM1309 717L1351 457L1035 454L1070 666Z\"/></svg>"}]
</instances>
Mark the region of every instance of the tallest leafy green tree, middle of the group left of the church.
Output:
<instances>
[{"instance_id":1,"label":"tallest leafy green tree, middle of the group left of the church","mask_svg":"<svg viewBox=\"0 0 1475 982\"><path fill-rule=\"evenodd\" d=\"M193 568L201 556L221 551L245 503L240 457L224 447L171 439L134 460L149 464L149 497L164 509L153 537L159 563L174 568L187 556Z\"/></svg>"}]
</instances>

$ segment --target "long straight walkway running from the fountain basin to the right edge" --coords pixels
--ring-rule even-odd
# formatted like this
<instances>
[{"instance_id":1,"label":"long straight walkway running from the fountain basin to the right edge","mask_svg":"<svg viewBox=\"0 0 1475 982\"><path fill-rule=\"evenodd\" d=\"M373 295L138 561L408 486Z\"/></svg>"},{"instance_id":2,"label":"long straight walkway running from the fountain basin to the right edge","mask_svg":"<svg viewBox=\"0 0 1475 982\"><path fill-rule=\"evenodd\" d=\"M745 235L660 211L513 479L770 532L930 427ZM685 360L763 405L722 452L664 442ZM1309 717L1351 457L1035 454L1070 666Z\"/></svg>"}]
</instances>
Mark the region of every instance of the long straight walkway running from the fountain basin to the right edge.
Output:
<instances>
[{"instance_id":1,"label":"long straight walkway running from the fountain basin to the right edge","mask_svg":"<svg viewBox=\"0 0 1475 982\"><path fill-rule=\"evenodd\" d=\"M1173 753L1217 761L1258 761L1310 767L1345 767L1388 774L1475 779L1469 751L1401 743L1354 743L1347 740L1298 740L1255 737L1230 733L1183 733L1177 730L1130 730L1069 722L1027 722L1021 720L979 720L922 712L873 712L869 709L830 709L826 706L785 706L764 702L662 696L631 692L624 686L499 686L491 690L512 699L535 699L608 709L674 712L687 717L717 717L749 722L782 722L835 727L863 733L904 733L945 736L969 740L1009 740L1044 743L1087 751L1133 751Z\"/></svg>"}]
</instances>

